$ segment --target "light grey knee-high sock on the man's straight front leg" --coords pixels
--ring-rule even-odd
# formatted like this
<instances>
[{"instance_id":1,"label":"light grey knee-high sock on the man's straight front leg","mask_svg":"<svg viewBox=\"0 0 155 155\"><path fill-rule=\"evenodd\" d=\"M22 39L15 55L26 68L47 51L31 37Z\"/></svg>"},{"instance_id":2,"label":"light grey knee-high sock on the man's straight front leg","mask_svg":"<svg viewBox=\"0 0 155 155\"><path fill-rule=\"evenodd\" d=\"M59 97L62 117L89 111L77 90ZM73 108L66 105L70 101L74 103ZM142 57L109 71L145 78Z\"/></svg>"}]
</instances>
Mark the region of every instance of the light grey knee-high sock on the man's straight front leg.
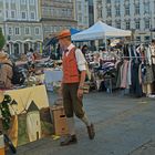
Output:
<instances>
[{"instance_id":1,"label":"light grey knee-high sock on the man's straight front leg","mask_svg":"<svg viewBox=\"0 0 155 155\"><path fill-rule=\"evenodd\" d=\"M75 135L75 124L73 117L66 117L68 127L69 127L69 134Z\"/></svg>"}]
</instances>

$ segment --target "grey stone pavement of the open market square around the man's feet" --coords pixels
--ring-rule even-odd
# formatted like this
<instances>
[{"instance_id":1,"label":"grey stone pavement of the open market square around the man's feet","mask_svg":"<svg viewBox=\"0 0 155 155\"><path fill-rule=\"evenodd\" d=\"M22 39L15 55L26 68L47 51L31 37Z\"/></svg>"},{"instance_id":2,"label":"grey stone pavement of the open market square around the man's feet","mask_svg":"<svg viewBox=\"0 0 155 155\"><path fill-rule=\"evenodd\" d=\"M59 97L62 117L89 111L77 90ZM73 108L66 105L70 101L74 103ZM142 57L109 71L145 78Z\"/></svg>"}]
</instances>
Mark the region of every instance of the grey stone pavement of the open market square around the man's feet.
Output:
<instances>
[{"instance_id":1,"label":"grey stone pavement of the open market square around the man's feet","mask_svg":"<svg viewBox=\"0 0 155 155\"><path fill-rule=\"evenodd\" d=\"M52 104L56 95L49 97ZM76 118L78 144L61 147L59 140L48 137L18 147L18 155L155 155L154 99L90 93L84 108L95 125L95 140L89 140Z\"/></svg>"}]
</instances>

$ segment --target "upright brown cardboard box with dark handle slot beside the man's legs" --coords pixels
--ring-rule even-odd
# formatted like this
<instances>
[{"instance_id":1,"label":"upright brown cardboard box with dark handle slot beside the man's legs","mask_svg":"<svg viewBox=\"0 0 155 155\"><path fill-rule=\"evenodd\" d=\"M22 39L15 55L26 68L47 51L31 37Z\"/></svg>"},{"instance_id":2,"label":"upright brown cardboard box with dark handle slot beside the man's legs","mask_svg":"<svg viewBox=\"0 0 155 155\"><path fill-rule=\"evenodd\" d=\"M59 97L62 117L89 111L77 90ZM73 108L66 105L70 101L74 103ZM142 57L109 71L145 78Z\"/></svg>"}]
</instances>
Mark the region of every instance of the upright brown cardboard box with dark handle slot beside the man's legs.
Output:
<instances>
[{"instance_id":1,"label":"upright brown cardboard box with dark handle slot beside the man's legs","mask_svg":"<svg viewBox=\"0 0 155 155\"><path fill-rule=\"evenodd\" d=\"M66 124L66 116L62 105L54 105L51 107L54 134L55 135L66 135L69 134L69 128Z\"/></svg>"}]
</instances>

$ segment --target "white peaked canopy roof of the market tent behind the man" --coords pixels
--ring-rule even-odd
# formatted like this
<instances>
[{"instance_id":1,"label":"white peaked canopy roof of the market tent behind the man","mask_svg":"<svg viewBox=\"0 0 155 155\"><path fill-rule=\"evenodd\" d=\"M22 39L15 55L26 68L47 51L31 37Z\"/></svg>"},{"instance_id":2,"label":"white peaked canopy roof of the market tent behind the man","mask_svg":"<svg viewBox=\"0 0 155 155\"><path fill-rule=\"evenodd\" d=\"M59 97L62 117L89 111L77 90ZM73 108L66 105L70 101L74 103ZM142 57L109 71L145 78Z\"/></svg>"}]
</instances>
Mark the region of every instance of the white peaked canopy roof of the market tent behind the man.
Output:
<instances>
[{"instance_id":1,"label":"white peaked canopy roof of the market tent behind the man","mask_svg":"<svg viewBox=\"0 0 155 155\"><path fill-rule=\"evenodd\" d=\"M102 21L97 21L95 24L89 29L72 35L72 41L89 41L106 39L107 37L130 37L131 31L116 29L114 27L107 25Z\"/></svg>"}]
</instances>

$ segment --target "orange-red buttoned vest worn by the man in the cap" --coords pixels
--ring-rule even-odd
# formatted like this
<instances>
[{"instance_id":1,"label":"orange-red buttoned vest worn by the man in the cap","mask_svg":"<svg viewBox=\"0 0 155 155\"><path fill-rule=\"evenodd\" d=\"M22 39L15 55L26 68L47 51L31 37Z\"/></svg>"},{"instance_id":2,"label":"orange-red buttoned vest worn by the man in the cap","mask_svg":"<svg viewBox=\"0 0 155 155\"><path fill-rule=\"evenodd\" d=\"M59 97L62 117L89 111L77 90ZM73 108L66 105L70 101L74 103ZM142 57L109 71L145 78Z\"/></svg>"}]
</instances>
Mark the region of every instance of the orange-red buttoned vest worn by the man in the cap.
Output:
<instances>
[{"instance_id":1,"label":"orange-red buttoned vest worn by the man in the cap","mask_svg":"<svg viewBox=\"0 0 155 155\"><path fill-rule=\"evenodd\" d=\"M73 48L70 53L64 53L63 55L63 83L79 83L80 73L78 70L78 63L75 58L75 48Z\"/></svg>"}]
</instances>

